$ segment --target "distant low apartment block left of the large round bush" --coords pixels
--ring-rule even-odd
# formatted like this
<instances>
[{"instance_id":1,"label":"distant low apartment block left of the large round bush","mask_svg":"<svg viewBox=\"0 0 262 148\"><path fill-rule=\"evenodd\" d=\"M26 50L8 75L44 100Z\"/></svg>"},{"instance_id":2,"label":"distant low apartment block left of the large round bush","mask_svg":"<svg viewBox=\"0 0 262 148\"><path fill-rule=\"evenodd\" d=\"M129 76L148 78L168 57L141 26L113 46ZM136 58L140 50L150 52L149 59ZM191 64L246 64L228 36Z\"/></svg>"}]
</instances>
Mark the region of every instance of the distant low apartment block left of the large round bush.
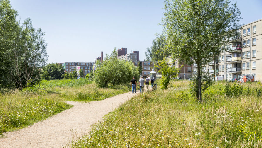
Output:
<instances>
[{"instance_id":1,"label":"distant low apartment block left of the large round bush","mask_svg":"<svg viewBox=\"0 0 262 148\"><path fill-rule=\"evenodd\" d=\"M65 72L73 72L76 67L80 67L83 70L84 75L92 72L92 67L95 65L94 62L65 62L63 63Z\"/></svg>"}]
</instances>

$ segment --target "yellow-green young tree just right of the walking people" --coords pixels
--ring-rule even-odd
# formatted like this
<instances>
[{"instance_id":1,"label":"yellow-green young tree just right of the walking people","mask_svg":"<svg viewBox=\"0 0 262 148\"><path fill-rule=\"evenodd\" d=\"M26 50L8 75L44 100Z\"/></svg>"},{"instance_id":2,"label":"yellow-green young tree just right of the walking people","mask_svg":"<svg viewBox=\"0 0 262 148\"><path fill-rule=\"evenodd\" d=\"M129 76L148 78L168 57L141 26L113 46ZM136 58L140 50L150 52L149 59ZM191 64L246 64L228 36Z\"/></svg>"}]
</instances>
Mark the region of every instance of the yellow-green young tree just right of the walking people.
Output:
<instances>
[{"instance_id":1,"label":"yellow-green young tree just right of the walking people","mask_svg":"<svg viewBox=\"0 0 262 148\"><path fill-rule=\"evenodd\" d=\"M168 64L167 58L164 58L162 61L159 61L157 67L159 67L160 72L162 74L162 77L160 79L161 89L167 89L169 81L171 80L171 78L177 77L180 68L171 67Z\"/></svg>"}]
</instances>

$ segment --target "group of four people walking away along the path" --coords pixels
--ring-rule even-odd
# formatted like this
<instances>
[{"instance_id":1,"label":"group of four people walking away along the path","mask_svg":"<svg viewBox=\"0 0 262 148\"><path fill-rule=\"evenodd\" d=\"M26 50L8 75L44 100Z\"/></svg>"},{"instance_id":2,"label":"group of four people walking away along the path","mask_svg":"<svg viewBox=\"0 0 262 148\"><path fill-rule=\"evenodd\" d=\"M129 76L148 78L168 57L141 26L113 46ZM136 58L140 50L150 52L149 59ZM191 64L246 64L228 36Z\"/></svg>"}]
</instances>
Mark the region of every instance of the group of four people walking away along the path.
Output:
<instances>
[{"instance_id":1,"label":"group of four people walking away along the path","mask_svg":"<svg viewBox=\"0 0 262 148\"><path fill-rule=\"evenodd\" d=\"M146 86L147 86L147 89L149 87L149 81L151 82L151 88L154 87L154 80L155 80L155 77L150 77L147 76L146 80L143 79L143 77L141 76L141 78L139 79L139 86L140 86L140 93L143 93L144 92L144 83L146 81ZM135 79L135 77L133 76L133 79L131 80L131 87L132 87L132 93L136 93L136 86L137 86L137 80Z\"/></svg>"}]
</instances>

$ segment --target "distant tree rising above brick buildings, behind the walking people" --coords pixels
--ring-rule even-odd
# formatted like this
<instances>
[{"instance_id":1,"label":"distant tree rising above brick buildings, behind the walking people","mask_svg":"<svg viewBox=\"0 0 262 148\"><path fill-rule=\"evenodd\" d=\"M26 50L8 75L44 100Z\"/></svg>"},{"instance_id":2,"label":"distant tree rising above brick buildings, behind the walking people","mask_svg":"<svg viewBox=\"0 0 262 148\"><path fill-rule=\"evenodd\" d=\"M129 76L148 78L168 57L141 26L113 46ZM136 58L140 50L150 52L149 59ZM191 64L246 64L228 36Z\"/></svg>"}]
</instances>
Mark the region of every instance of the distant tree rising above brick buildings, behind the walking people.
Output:
<instances>
[{"instance_id":1,"label":"distant tree rising above brick buildings, behind the walking people","mask_svg":"<svg viewBox=\"0 0 262 148\"><path fill-rule=\"evenodd\" d=\"M159 61L163 60L166 54L169 54L169 51L164 52L165 45L165 36L157 35L157 38L153 40L152 46L150 48L147 47L147 51L145 52L147 61Z\"/></svg>"}]
</instances>

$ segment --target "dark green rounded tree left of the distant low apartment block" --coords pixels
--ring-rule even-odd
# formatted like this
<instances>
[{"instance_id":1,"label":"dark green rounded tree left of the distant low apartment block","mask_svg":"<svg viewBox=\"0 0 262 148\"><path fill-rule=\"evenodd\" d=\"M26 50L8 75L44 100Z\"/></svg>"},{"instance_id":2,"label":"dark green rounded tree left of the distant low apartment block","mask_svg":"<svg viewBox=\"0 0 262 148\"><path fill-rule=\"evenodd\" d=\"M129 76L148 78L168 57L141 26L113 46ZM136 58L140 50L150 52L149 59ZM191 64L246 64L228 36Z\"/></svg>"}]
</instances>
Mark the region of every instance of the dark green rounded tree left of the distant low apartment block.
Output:
<instances>
[{"instance_id":1,"label":"dark green rounded tree left of the distant low apartment block","mask_svg":"<svg viewBox=\"0 0 262 148\"><path fill-rule=\"evenodd\" d=\"M48 74L50 80L54 79L62 79L62 75L65 74L65 69L63 65L59 64L48 64L45 67L43 67L43 74ZM45 75L41 75L42 79L49 80Z\"/></svg>"}]
</instances>

